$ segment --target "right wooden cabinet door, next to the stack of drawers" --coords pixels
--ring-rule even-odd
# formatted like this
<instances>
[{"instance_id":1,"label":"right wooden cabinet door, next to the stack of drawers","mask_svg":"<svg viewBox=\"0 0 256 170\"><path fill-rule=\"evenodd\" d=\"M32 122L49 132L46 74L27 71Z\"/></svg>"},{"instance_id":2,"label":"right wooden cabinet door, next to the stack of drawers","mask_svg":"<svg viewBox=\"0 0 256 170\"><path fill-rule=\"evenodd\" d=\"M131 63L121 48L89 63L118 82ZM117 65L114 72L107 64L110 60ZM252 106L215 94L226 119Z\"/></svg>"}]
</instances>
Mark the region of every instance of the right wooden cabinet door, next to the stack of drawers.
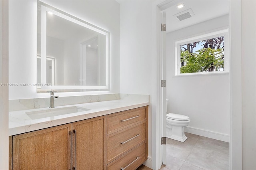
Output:
<instances>
[{"instance_id":1,"label":"right wooden cabinet door, next to the stack of drawers","mask_svg":"<svg viewBox=\"0 0 256 170\"><path fill-rule=\"evenodd\" d=\"M73 123L76 170L106 169L106 116Z\"/></svg>"}]
</instances>

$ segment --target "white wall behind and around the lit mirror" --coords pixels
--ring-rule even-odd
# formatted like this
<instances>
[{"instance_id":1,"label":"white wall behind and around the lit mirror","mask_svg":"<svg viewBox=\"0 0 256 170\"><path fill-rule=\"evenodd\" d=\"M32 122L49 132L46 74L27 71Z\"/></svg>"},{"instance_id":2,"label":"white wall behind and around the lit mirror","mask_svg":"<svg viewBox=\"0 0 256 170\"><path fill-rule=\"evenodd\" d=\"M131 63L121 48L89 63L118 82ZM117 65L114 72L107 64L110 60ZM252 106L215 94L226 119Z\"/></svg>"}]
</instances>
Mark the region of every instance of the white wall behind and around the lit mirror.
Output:
<instances>
[{"instance_id":1,"label":"white wall behind and around the lit mirror","mask_svg":"<svg viewBox=\"0 0 256 170\"><path fill-rule=\"evenodd\" d=\"M110 91L60 93L60 96L119 93L119 4L115 0L42 0L110 32ZM9 83L36 83L37 0L9 0ZM9 99L49 97L36 87L10 87Z\"/></svg>"}]
</instances>

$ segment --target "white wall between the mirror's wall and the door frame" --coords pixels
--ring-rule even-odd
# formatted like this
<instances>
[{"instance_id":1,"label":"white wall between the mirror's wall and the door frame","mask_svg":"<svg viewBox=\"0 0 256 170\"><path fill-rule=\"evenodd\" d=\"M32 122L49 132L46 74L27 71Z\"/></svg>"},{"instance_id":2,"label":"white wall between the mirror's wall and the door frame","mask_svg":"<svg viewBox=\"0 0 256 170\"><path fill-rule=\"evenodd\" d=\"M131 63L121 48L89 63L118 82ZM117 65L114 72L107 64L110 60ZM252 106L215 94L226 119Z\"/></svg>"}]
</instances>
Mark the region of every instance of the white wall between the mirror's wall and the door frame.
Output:
<instances>
[{"instance_id":1,"label":"white wall between the mirror's wall and the door frame","mask_svg":"<svg viewBox=\"0 0 256 170\"><path fill-rule=\"evenodd\" d=\"M151 160L152 141L156 140L152 139L151 126L152 114L156 115L156 57L152 54L152 2L119 2L120 93L150 95L148 158ZM146 165L151 167L151 162L148 161Z\"/></svg>"}]
</instances>

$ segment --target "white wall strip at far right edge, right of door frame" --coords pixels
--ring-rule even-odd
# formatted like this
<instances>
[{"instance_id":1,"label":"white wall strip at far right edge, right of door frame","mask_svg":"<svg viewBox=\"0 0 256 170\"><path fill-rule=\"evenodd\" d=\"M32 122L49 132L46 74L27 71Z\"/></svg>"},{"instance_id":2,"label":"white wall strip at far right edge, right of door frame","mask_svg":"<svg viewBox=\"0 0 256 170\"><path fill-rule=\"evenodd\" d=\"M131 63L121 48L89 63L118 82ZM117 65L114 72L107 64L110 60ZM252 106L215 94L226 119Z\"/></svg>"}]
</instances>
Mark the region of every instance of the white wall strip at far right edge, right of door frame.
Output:
<instances>
[{"instance_id":1,"label":"white wall strip at far right edge, right of door frame","mask_svg":"<svg viewBox=\"0 0 256 170\"><path fill-rule=\"evenodd\" d=\"M242 0L242 169L256 169L256 2Z\"/></svg>"}]
</instances>

